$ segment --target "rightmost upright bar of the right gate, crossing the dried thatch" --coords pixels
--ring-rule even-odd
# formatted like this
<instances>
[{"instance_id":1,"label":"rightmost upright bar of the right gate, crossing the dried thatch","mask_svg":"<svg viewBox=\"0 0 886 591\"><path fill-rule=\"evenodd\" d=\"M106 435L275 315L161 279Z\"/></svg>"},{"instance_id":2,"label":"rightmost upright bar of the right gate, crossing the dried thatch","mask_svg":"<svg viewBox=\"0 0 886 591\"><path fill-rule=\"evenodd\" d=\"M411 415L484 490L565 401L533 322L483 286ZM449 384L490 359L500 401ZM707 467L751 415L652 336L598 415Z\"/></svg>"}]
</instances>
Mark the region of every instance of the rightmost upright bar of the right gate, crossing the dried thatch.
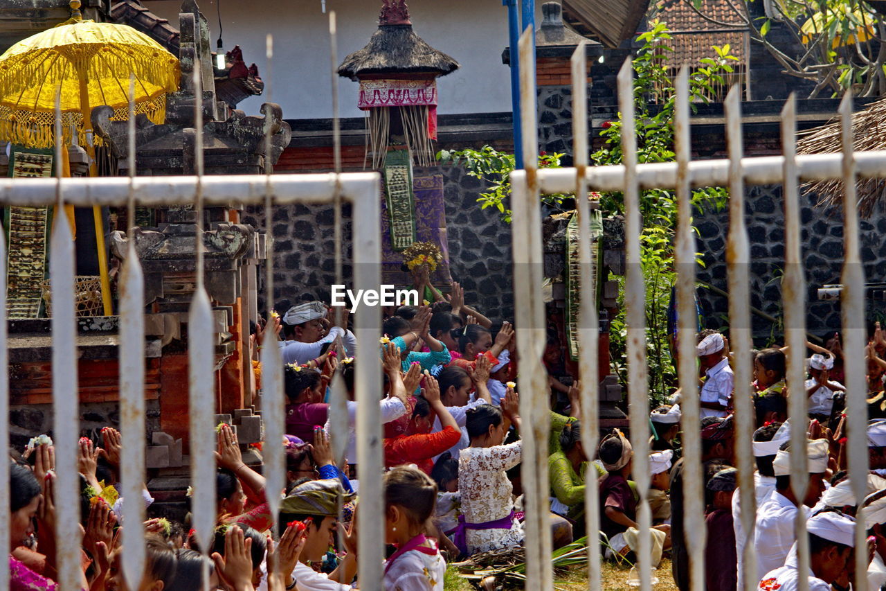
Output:
<instances>
[{"instance_id":1,"label":"rightmost upright bar of the right gate, crossing the dried thatch","mask_svg":"<svg viewBox=\"0 0 886 591\"><path fill-rule=\"evenodd\" d=\"M843 144L843 367L846 374L846 418L849 431L849 475L858 504L867 492L867 383L865 372L865 272L859 254L859 209L856 194L856 154L852 147L852 92L840 103ZM859 156L861 154L858 154ZM855 572L853 587L867 589L865 509L859 507L855 525Z\"/></svg>"}]
</instances>

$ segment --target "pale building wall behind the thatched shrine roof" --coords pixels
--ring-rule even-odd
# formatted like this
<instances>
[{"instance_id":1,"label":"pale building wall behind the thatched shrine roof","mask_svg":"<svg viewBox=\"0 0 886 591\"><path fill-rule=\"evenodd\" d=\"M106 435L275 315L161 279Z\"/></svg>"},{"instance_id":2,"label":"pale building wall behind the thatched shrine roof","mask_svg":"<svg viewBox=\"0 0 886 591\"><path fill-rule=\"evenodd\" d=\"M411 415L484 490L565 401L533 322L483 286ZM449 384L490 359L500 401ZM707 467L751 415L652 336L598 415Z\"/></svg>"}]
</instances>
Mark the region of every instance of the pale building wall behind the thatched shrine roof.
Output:
<instances>
[{"instance_id":1,"label":"pale building wall behind the thatched shrine roof","mask_svg":"<svg viewBox=\"0 0 886 591\"><path fill-rule=\"evenodd\" d=\"M377 29L380 0L202 0L212 46L218 37L216 3L221 2L225 50L243 49L248 65L255 62L266 79L265 36L274 35L271 93L287 119L326 118L332 114L328 12L338 17L339 62L361 49ZM144 3L177 28L179 0ZM539 3L540 4L540 3ZM509 67L501 63L508 45L508 9L501 0L409 0L416 33L432 47L448 53L462 67L438 81L439 114L510 111ZM361 116L357 83L338 79L341 116ZM247 98L238 106L258 114L267 98Z\"/></svg>"}]
</instances>

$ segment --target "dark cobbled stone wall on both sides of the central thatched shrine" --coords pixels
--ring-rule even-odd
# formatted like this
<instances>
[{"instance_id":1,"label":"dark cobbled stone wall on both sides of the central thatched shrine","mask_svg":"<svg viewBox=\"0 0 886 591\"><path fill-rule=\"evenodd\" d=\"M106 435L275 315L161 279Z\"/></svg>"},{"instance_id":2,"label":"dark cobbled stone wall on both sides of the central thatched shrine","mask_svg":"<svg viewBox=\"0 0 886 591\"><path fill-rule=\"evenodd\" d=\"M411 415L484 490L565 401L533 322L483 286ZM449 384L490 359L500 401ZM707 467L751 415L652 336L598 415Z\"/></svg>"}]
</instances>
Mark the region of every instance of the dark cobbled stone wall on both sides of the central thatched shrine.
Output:
<instances>
[{"instance_id":1,"label":"dark cobbled stone wall on both sides of the central thatched shrine","mask_svg":"<svg viewBox=\"0 0 886 591\"><path fill-rule=\"evenodd\" d=\"M451 272L466 291L469 305L478 306L494 320L511 319L514 314L511 287L510 226L501 222L498 212L479 208L481 182L459 167L416 169L416 176L442 174L445 178L447 236ZM354 220L350 207L343 209L343 274L352 282L351 243ZM246 209L243 221L264 230L262 209ZM293 303L319 299L329 301L330 285L335 283L333 209L329 206L278 206L272 218L274 233L274 294L276 310L285 311ZM360 223L377 224L361 220ZM263 294L264 275L260 275ZM260 297L259 308L264 308Z\"/></svg>"}]
</instances>

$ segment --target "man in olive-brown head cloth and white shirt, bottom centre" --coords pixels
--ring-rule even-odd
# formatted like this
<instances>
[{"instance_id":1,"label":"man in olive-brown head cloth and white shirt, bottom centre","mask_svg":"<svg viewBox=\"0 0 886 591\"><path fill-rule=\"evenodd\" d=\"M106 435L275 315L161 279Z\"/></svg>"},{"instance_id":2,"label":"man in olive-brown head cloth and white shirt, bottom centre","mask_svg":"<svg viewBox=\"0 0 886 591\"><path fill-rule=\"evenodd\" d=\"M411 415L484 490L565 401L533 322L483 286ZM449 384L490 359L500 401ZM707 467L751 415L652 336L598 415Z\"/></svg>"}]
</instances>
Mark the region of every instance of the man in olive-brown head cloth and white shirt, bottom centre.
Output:
<instances>
[{"instance_id":1,"label":"man in olive-brown head cloth and white shirt, bottom centre","mask_svg":"<svg viewBox=\"0 0 886 591\"><path fill-rule=\"evenodd\" d=\"M299 554L299 562L292 571L291 578L286 581L287 589L297 591L351 591L348 583L354 580L357 573L357 557L353 544L356 532L348 532L345 538L347 554L342 558L335 571L328 575L317 572L306 561L317 562L329 549L331 536L338 527L338 495L346 503L354 498L351 493L342 489L338 480L311 480L296 486L280 503L280 516L277 522L280 534L286 530L286 524L300 521L307 525L305 530L305 546Z\"/></svg>"}]
</instances>

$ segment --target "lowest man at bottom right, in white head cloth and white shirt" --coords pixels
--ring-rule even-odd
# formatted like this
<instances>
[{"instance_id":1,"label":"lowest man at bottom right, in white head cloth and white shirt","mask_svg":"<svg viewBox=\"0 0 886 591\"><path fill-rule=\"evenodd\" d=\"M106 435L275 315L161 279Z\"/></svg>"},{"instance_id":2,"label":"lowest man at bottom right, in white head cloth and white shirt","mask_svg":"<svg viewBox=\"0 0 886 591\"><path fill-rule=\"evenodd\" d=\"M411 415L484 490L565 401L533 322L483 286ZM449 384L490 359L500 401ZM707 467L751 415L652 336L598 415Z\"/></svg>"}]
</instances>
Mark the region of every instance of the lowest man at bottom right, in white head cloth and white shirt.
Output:
<instances>
[{"instance_id":1,"label":"lowest man at bottom right, in white head cloth and white shirt","mask_svg":"<svg viewBox=\"0 0 886 591\"><path fill-rule=\"evenodd\" d=\"M809 518L809 591L832 591L831 584L851 571L855 519L833 511L824 511ZM760 579L759 591L795 591L800 577L797 546L791 548L784 566L769 571Z\"/></svg>"}]
</instances>

